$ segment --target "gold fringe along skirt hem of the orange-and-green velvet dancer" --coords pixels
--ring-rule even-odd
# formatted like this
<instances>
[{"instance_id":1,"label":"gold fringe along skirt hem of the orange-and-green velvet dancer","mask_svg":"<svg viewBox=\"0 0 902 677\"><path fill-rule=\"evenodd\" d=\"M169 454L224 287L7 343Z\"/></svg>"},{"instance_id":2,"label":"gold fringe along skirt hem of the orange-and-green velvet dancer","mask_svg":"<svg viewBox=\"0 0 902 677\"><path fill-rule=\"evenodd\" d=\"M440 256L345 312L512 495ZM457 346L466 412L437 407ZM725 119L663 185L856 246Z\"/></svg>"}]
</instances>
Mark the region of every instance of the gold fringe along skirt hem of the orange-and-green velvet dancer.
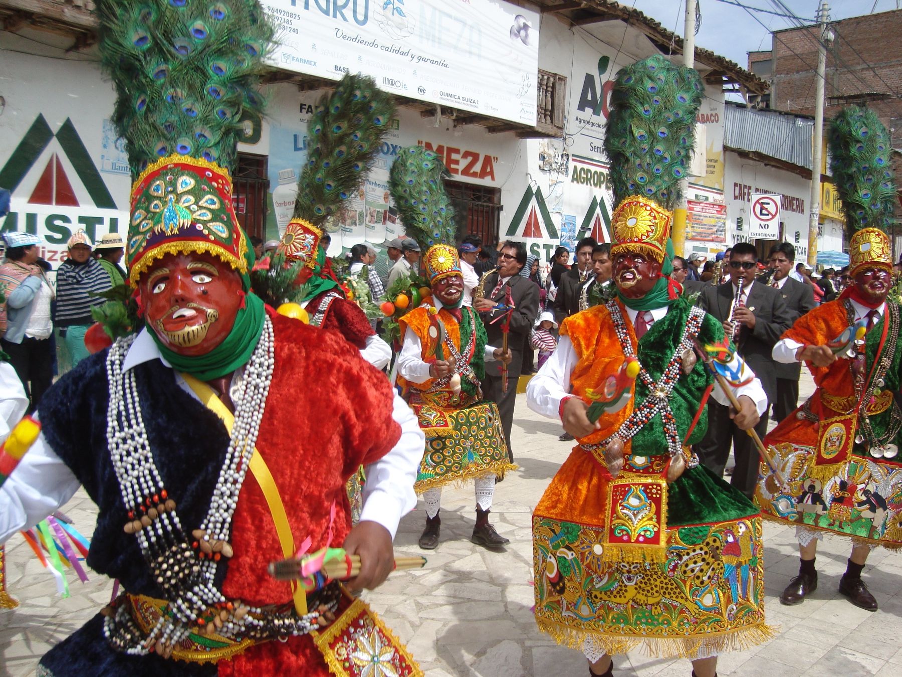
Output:
<instances>
[{"instance_id":1,"label":"gold fringe along skirt hem of the orange-and-green velvet dancer","mask_svg":"<svg viewBox=\"0 0 902 677\"><path fill-rule=\"evenodd\" d=\"M586 639L591 639L606 654L626 654L640 650L652 658L686 658L695 657L704 652L725 654L731 651L745 651L752 646L762 645L774 639L777 629L764 623L754 626L738 627L717 633L704 633L688 637L634 637L580 630L564 626L556 621L536 617L538 629L550 635L559 645L581 650Z\"/></svg>"}]
</instances>

